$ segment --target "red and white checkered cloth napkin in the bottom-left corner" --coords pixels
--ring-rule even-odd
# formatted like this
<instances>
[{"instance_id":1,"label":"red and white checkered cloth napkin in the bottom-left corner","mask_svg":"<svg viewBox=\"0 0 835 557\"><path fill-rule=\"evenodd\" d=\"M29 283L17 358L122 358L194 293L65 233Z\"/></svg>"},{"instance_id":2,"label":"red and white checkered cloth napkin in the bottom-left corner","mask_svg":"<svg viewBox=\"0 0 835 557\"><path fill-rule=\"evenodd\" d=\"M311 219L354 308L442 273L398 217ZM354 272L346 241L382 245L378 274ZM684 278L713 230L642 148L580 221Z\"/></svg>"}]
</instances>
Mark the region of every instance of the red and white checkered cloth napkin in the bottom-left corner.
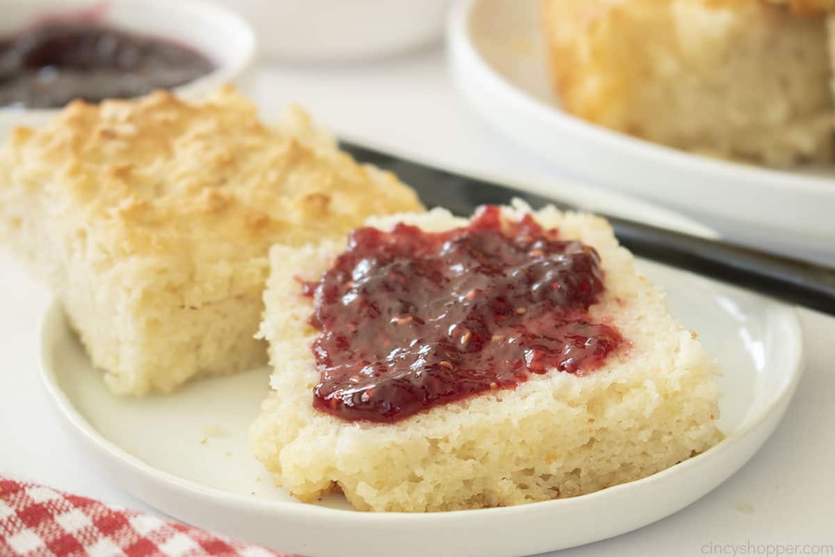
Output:
<instances>
[{"instance_id":1,"label":"red and white checkered cloth napkin in the bottom-left corner","mask_svg":"<svg viewBox=\"0 0 835 557\"><path fill-rule=\"evenodd\" d=\"M289 557L0 475L0 557Z\"/></svg>"}]
</instances>

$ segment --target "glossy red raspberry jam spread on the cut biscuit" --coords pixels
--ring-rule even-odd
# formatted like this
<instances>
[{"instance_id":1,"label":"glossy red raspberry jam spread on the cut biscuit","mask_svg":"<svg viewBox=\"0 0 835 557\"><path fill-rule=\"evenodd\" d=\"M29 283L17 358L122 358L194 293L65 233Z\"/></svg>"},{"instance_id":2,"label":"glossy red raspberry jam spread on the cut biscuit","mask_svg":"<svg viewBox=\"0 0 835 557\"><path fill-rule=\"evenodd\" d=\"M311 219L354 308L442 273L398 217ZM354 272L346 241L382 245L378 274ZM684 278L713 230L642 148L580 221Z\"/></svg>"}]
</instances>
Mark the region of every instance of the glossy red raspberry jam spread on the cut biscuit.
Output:
<instances>
[{"instance_id":1,"label":"glossy red raspberry jam spread on the cut biscuit","mask_svg":"<svg viewBox=\"0 0 835 557\"><path fill-rule=\"evenodd\" d=\"M346 420L396 422L530 373L590 372L623 339L590 322L600 256L526 215L478 210L429 233L354 230L318 282L311 325L321 372L313 405Z\"/></svg>"}]
</instances>

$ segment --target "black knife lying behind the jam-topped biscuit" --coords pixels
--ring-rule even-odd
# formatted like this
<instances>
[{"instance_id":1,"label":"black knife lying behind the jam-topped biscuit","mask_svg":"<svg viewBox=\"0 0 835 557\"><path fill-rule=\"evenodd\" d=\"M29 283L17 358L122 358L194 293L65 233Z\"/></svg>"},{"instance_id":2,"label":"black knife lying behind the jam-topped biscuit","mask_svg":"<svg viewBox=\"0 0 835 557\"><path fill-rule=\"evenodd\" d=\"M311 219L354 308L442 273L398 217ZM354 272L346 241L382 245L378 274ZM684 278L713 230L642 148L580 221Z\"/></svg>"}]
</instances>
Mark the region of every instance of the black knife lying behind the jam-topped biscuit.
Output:
<instances>
[{"instance_id":1,"label":"black knife lying behind the jam-topped biscuit","mask_svg":"<svg viewBox=\"0 0 835 557\"><path fill-rule=\"evenodd\" d=\"M446 207L457 215L470 215L478 205L506 205L514 198L534 209L549 204L562 210L579 209L557 199L404 160L377 149L347 141L341 145L355 159L391 170L417 191L424 205ZM598 214L610 221L620 244L637 256L835 315L832 267Z\"/></svg>"}]
</instances>

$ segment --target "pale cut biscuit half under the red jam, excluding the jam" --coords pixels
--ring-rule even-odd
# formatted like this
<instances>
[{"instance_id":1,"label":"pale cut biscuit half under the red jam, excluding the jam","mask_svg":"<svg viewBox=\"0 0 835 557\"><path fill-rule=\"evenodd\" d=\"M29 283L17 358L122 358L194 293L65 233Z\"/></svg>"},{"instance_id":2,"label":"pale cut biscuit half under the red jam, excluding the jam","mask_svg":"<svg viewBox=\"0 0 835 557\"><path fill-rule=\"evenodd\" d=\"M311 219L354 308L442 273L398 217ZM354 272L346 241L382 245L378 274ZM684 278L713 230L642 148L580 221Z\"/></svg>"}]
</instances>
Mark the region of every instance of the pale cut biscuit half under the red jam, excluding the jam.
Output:
<instances>
[{"instance_id":1,"label":"pale cut biscuit half under the red jam, excluding the jam","mask_svg":"<svg viewBox=\"0 0 835 557\"><path fill-rule=\"evenodd\" d=\"M519 219L529 209L504 208ZM274 246L261 337L270 343L272 392L251 427L256 457L276 484L311 500L340 489L361 510L424 512L524 504L588 494L644 478L721 439L716 363L670 315L605 220L546 208L534 213L561 239L600 254L605 291L594 322L616 327L628 349L582 374L551 369L514 389L434 406L394 423L349 422L313 407L320 371L308 322L315 280L345 240ZM466 225L445 210L369 220L442 231ZM397 347L392 346L392 350Z\"/></svg>"}]
</instances>

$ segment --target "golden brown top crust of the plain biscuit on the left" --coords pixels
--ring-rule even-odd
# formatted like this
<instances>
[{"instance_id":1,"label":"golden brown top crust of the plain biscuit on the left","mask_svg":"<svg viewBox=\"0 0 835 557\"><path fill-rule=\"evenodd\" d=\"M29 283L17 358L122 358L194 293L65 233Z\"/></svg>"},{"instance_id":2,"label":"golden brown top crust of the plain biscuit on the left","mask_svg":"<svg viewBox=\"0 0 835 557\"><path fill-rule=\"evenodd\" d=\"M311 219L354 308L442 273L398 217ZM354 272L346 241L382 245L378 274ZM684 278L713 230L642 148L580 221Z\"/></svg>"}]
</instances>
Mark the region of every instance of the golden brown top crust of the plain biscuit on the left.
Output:
<instances>
[{"instance_id":1,"label":"golden brown top crust of the plain biscuit on the left","mask_svg":"<svg viewBox=\"0 0 835 557\"><path fill-rule=\"evenodd\" d=\"M420 209L412 190L338 151L301 109L270 127L230 88L195 103L161 91L73 102L45 129L14 130L0 151L0 189L21 187L42 189L53 213L110 255L266 256L275 241Z\"/></svg>"}]
</instances>

